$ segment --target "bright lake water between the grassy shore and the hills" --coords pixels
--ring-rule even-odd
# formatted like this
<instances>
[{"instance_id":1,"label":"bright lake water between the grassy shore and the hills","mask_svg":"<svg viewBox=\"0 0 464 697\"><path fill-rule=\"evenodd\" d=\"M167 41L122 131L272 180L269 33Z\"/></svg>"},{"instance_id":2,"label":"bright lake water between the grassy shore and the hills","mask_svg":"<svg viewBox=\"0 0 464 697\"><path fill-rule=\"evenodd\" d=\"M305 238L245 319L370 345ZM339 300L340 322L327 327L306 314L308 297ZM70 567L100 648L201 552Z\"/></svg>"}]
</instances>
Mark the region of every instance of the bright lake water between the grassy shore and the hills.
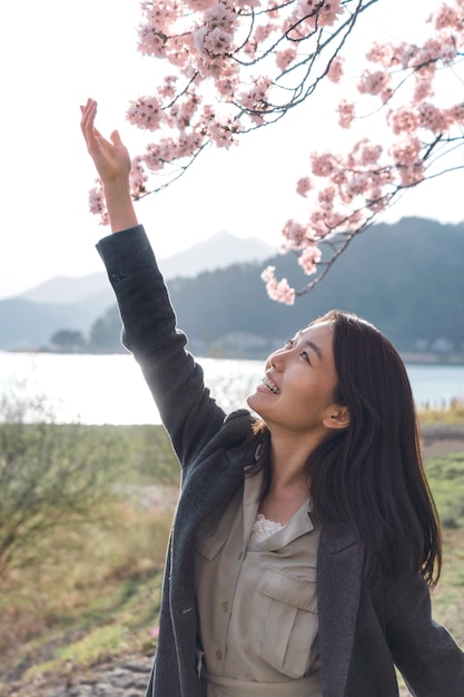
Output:
<instances>
[{"instance_id":1,"label":"bright lake water between the grassy shore and the hills","mask_svg":"<svg viewBox=\"0 0 464 697\"><path fill-rule=\"evenodd\" d=\"M263 377L264 361L199 359L218 403L230 411ZM464 365L407 364L417 406L445 408L464 400ZM0 352L1 393L47 395L56 420L89 424L159 423L140 370L130 355L66 355Z\"/></svg>"}]
</instances>

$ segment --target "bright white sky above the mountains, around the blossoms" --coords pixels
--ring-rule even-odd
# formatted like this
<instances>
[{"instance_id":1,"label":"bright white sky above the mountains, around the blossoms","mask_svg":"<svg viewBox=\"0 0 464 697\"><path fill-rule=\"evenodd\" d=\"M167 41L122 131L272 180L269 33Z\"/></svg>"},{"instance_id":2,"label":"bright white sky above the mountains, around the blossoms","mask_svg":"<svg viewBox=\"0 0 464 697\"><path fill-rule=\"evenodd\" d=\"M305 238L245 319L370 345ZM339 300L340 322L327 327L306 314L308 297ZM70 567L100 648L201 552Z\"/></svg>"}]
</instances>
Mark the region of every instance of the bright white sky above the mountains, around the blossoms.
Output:
<instances>
[{"instance_id":1,"label":"bright white sky above the mountains, around the blossoms","mask_svg":"<svg viewBox=\"0 0 464 697\"><path fill-rule=\"evenodd\" d=\"M436 0L381 0L367 11L364 31L372 40L406 39L424 8L434 6ZM150 94L157 62L136 50L139 17L137 0L0 4L0 297L52 276L102 269L93 244L107 228L88 213L95 175L79 105L96 98L100 130L118 128L129 149L140 150L140 135L125 122L125 112L131 98ZM332 137L317 95L292 118L231 150L207 151L180 180L138 205L159 257L220 229L278 246L285 220L299 205L296 179L307 174L309 153ZM408 193L388 219L464 219L458 176Z\"/></svg>"}]
</instances>

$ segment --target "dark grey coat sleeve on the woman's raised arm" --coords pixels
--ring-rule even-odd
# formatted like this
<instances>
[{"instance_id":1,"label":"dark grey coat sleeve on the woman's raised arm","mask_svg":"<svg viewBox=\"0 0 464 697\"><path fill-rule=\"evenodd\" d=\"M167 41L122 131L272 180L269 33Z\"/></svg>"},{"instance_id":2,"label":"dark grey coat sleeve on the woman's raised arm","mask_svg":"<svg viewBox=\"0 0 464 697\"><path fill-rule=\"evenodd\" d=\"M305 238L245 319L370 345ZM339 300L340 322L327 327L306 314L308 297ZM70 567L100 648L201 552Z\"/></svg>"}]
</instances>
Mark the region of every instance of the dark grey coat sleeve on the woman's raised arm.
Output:
<instances>
[{"instance_id":1,"label":"dark grey coat sleeve on the woman's raised arm","mask_svg":"<svg viewBox=\"0 0 464 697\"><path fill-rule=\"evenodd\" d=\"M141 225L101 239L122 320L122 342L139 363L182 465L219 431L225 413L176 327L169 294Z\"/></svg>"}]
</instances>

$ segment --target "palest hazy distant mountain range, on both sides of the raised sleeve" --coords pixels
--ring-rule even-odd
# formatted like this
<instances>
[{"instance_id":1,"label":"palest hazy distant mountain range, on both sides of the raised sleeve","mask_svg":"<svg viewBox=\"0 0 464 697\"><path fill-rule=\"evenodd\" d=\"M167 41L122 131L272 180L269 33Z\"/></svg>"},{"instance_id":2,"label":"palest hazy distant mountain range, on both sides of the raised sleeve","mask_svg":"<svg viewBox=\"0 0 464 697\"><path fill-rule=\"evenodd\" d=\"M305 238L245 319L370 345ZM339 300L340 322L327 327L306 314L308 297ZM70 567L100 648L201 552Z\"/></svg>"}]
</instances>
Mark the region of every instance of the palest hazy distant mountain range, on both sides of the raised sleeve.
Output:
<instances>
[{"instance_id":1,"label":"palest hazy distant mountain range, on both sides of the raised sleeve","mask_svg":"<svg viewBox=\"0 0 464 697\"><path fill-rule=\"evenodd\" d=\"M265 259L275 248L258 238L238 238L219 232L171 257L160 259L166 278L194 277L206 269L234 263ZM22 293L0 301L0 350L46 346L61 328L87 334L115 295L105 272L79 278L57 276Z\"/></svg>"}]
</instances>

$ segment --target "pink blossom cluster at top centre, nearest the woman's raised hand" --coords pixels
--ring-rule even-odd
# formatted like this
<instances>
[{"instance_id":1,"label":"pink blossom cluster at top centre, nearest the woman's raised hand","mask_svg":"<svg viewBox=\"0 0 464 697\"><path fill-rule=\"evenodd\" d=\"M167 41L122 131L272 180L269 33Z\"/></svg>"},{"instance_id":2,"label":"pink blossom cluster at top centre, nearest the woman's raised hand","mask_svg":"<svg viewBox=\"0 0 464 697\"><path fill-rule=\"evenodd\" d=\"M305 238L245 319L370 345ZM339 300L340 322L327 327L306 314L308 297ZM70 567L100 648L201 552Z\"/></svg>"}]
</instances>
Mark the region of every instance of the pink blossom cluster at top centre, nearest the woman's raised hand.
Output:
<instances>
[{"instance_id":1,"label":"pink blossom cluster at top centre, nearest the woman's raised hand","mask_svg":"<svg viewBox=\"0 0 464 697\"><path fill-rule=\"evenodd\" d=\"M302 89L312 91L367 2L142 1L138 49L162 68L154 92L127 111L130 124L150 134L134 163L134 197L157 190L148 184L157 174L166 187L206 145L229 148L240 134L285 114ZM106 220L98 187L91 209Z\"/></svg>"}]
</instances>

